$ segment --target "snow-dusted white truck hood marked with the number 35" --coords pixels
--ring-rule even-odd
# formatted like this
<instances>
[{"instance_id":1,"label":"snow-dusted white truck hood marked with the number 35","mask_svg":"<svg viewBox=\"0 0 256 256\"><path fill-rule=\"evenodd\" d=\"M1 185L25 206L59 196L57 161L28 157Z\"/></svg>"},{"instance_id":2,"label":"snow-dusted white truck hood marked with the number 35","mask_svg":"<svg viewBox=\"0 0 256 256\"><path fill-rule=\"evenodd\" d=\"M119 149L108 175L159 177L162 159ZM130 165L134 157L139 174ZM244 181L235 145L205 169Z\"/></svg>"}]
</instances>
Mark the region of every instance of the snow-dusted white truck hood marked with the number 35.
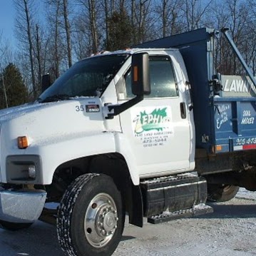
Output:
<instances>
[{"instance_id":1,"label":"snow-dusted white truck hood marked with the number 35","mask_svg":"<svg viewBox=\"0 0 256 256\"><path fill-rule=\"evenodd\" d=\"M26 135L31 146L71 139L73 136L106 130L100 98L73 98L68 101L34 103L0 111L1 134L13 141Z\"/></svg>"}]
</instances>

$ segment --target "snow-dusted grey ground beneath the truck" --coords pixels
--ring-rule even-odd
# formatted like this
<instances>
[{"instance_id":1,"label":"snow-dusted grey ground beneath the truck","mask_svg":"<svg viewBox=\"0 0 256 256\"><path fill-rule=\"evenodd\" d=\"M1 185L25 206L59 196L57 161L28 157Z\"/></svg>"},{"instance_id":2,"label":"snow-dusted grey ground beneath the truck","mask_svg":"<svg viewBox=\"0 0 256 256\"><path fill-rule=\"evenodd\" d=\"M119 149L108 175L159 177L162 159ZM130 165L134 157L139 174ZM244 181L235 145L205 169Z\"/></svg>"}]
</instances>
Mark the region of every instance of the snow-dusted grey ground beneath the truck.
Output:
<instances>
[{"instance_id":1,"label":"snow-dusted grey ground beneath the truck","mask_svg":"<svg viewBox=\"0 0 256 256\"><path fill-rule=\"evenodd\" d=\"M247 256L256 255L256 201L240 193L213 204L214 213L174 220L142 229L126 224L113 256ZM36 222L28 230L0 230L0 256L63 256L55 227Z\"/></svg>"}]
</instances>

